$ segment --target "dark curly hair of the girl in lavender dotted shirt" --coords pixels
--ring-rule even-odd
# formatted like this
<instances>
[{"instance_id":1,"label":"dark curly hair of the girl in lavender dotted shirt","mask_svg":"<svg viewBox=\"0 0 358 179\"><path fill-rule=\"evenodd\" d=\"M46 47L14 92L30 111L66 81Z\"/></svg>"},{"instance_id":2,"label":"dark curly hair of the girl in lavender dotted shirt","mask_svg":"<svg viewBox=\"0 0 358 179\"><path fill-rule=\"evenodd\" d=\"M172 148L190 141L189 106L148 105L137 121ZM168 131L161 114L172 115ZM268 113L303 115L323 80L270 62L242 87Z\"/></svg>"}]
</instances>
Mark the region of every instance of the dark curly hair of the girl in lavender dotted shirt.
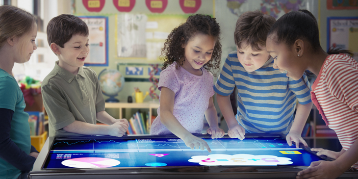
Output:
<instances>
[{"instance_id":1,"label":"dark curly hair of the girl in lavender dotted shirt","mask_svg":"<svg viewBox=\"0 0 358 179\"><path fill-rule=\"evenodd\" d=\"M185 61L184 49L181 47L185 45L196 34L210 35L216 38L214 51L211 59L203 66L207 71L211 69L220 70L221 60L221 44L220 44L220 26L215 18L208 15L195 14L188 17L184 24L174 28L165 40L164 47L160 58L164 60L162 70L166 69L168 65L177 62L176 69L179 69ZM214 76L216 73L211 72Z\"/></svg>"}]
</instances>

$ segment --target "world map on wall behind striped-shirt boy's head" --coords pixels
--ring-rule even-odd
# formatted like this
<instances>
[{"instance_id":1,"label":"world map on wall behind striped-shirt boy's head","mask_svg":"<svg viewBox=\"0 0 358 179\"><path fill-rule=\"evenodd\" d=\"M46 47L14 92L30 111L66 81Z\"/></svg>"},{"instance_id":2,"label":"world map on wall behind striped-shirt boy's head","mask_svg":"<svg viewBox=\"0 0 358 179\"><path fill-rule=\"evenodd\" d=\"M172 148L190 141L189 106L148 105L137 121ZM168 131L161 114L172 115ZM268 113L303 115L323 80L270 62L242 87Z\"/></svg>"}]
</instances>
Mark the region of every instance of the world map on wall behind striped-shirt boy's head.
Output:
<instances>
[{"instance_id":1,"label":"world map on wall behind striped-shirt boy's head","mask_svg":"<svg viewBox=\"0 0 358 179\"><path fill-rule=\"evenodd\" d=\"M240 7L248 0L227 0L227 7L230 12L236 16L240 16L244 12ZM291 11L297 11L305 6L304 0L261 0L260 7L262 13L271 15L278 19L283 14Z\"/></svg>"}]
</instances>

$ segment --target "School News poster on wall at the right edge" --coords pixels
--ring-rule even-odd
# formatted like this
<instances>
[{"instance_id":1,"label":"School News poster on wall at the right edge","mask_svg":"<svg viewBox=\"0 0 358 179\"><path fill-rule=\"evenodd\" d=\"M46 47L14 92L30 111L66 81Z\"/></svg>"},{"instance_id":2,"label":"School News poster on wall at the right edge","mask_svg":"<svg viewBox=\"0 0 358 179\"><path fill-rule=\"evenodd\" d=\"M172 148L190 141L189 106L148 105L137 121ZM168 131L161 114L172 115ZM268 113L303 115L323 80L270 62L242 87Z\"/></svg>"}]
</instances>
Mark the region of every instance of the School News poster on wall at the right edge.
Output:
<instances>
[{"instance_id":1,"label":"School News poster on wall at the right edge","mask_svg":"<svg viewBox=\"0 0 358 179\"><path fill-rule=\"evenodd\" d=\"M330 47L350 50L358 61L358 17L328 17L327 26L327 51Z\"/></svg>"}]
</instances>

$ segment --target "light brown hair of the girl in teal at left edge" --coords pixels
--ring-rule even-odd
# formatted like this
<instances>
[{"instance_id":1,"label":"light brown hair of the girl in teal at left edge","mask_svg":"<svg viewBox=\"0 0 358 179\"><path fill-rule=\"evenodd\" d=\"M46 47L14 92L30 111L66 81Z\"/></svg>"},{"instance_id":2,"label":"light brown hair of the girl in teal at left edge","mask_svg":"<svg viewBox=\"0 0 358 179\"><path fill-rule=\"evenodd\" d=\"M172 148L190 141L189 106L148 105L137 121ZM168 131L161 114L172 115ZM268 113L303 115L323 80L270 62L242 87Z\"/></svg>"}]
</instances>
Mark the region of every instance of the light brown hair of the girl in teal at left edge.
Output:
<instances>
[{"instance_id":1,"label":"light brown hair of the girl in teal at left edge","mask_svg":"<svg viewBox=\"0 0 358 179\"><path fill-rule=\"evenodd\" d=\"M0 49L8 38L30 33L36 24L32 14L11 5L0 6Z\"/></svg>"}]
</instances>

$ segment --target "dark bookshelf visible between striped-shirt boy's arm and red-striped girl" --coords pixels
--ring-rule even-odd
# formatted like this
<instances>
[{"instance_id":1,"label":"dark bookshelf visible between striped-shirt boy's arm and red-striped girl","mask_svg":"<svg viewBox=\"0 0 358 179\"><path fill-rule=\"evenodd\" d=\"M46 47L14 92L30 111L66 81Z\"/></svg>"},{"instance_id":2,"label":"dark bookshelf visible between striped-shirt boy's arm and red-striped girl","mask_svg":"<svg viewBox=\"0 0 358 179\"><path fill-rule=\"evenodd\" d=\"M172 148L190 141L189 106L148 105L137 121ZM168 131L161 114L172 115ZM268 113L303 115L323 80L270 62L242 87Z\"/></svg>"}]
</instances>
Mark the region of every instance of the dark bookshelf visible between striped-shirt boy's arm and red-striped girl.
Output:
<instances>
[{"instance_id":1,"label":"dark bookshelf visible between striped-shirt boy's arm and red-striped girl","mask_svg":"<svg viewBox=\"0 0 358 179\"><path fill-rule=\"evenodd\" d=\"M337 135L332 129L328 128L328 126L326 127L326 124L315 105L312 106L311 112L307 119L307 124L309 124L310 127L309 135L302 138L306 140L309 147L323 148L336 152L339 152L342 149ZM320 131L323 132L321 133Z\"/></svg>"}]
</instances>

